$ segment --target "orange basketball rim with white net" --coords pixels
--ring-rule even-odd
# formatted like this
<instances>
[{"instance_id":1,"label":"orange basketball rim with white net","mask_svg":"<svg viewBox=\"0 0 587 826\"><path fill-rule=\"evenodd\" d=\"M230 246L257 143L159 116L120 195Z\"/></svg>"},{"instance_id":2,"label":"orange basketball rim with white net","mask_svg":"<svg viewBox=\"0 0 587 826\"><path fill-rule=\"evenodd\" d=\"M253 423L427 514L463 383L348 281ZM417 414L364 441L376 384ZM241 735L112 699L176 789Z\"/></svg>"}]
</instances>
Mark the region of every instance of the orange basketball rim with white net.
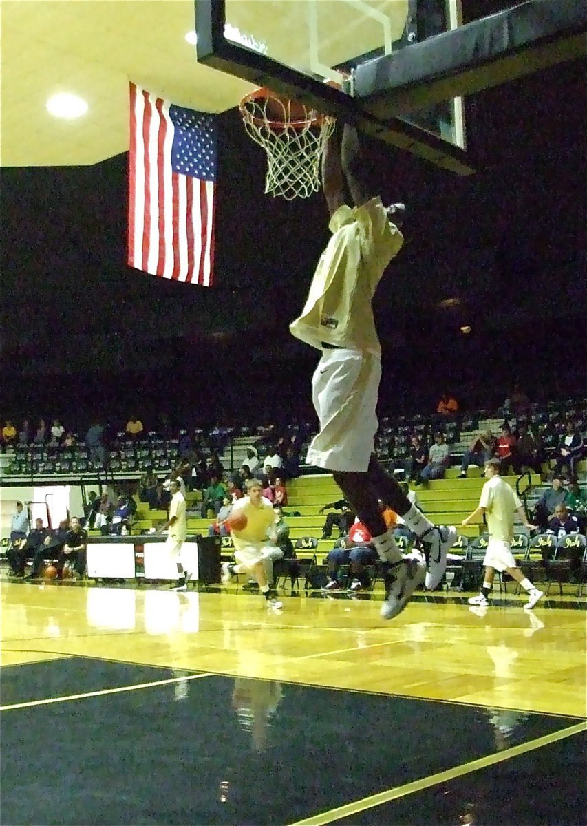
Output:
<instances>
[{"instance_id":1,"label":"orange basketball rim with white net","mask_svg":"<svg viewBox=\"0 0 587 826\"><path fill-rule=\"evenodd\" d=\"M320 158L335 118L261 88L240 102L244 128L267 153L265 192L286 201L320 188Z\"/></svg>"}]
</instances>

